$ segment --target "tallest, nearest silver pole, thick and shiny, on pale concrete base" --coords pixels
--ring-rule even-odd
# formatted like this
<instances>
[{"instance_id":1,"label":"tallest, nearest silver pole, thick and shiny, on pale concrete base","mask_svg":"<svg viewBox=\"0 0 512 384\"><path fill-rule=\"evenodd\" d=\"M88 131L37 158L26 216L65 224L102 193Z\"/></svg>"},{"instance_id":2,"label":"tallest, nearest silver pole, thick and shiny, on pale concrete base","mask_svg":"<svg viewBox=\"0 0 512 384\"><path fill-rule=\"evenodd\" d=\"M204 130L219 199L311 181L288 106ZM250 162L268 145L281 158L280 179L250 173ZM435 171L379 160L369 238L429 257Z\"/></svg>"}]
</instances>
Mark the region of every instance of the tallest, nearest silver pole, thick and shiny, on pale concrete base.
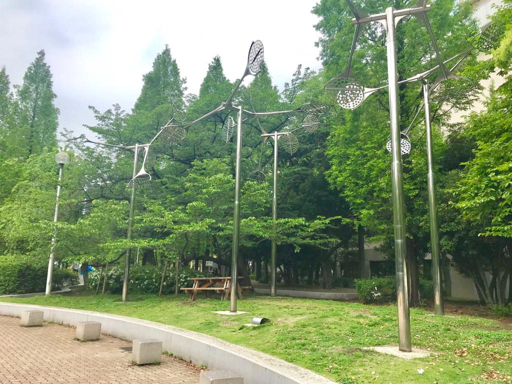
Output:
<instances>
[{"instance_id":1,"label":"tallest, nearest silver pole, thick and shiny, on pale concrete base","mask_svg":"<svg viewBox=\"0 0 512 384\"><path fill-rule=\"evenodd\" d=\"M398 309L398 348L411 352L411 323L409 317L409 295L407 292L406 266L406 220L403 200L402 158L400 154L400 125L398 115L398 75L395 45L395 9L386 8L386 46L388 53L389 106L392 147L392 198L393 226L395 234L396 298Z\"/></svg>"}]
</instances>

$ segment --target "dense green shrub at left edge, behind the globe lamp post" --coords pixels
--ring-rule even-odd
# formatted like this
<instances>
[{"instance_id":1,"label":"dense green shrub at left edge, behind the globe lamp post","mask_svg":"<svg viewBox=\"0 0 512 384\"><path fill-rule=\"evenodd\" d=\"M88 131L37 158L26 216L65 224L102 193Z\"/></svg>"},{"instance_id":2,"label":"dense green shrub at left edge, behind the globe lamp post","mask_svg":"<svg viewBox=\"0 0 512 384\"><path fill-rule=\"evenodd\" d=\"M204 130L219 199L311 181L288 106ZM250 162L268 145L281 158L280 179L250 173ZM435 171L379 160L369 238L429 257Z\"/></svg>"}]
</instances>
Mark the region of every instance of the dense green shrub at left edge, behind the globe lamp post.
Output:
<instances>
[{"instance_id":1,"label":"dense green shrub at left edge, behind the globe lamp post","mask_svg":"<svg viewBox=\"0 0 512 384\"><path fill-rule=\"evenodd\" d=\"M24 255L4 255L0 258L0 294L39 293L46 288L48 264ZM78 283L78 276L62 269L53 270L52 289Z\"/></svg>"}]
</instances>

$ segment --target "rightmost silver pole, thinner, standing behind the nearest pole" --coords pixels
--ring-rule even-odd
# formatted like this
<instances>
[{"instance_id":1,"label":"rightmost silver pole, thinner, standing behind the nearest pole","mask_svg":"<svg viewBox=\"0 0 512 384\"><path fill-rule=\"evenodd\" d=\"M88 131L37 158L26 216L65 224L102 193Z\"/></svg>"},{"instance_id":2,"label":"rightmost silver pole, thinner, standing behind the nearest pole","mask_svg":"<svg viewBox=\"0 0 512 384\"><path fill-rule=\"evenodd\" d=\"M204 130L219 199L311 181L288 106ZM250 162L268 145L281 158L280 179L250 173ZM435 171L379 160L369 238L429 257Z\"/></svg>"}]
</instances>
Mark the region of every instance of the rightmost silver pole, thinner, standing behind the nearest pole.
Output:
<instances>
[{"instance_id":1,"label":"rightmost silver pole, thinner, standing behind the nearest pole","mask_svg":"<svg viewBox=\"0 0 512 384\"><path fill-rule=\"evenodd\" d=\"M429 190L430 243L432 245L432 281L434 283L434 313L444 315L441 287L439 228L437 225L436 180L434 176L434 153L432 148L432 125L430 122L429 83L423 81L425 102L426 157L428 163L427 188Z\"/></svg>"}]
</instances>

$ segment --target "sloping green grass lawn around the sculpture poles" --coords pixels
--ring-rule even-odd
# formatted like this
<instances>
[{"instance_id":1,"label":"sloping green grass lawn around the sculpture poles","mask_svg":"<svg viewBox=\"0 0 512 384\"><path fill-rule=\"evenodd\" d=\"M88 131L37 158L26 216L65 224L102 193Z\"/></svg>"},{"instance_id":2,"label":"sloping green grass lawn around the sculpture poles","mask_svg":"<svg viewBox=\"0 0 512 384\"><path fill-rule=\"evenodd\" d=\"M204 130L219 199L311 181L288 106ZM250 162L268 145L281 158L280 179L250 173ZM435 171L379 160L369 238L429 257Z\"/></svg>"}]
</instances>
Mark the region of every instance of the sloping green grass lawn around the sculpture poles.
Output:
<instances>
[{"instance_id":1,"label":"sloping green grass lawn around the sculpture poles","mask_svg":"<svg viewBox=\"0 0 512 384\"><path fill-rule=\"evenodd\" d=\"M300 298L248 296L238 302L247 314L223 316L229 302L199 298L119 295L55 295L1 301L115 313L216 336L308 368L334 381L355 383L512 382L512 331L487 318L434 316L411 310L413 345L435 352L403 360L360 347L397 343L396 307ZM245 327L253 316L271 323ZM423 374L417 370L423 369ZM495 380L495 381L493 381ZM499 381L498 381L499 380Z\"/></svg>"}]
</instances>

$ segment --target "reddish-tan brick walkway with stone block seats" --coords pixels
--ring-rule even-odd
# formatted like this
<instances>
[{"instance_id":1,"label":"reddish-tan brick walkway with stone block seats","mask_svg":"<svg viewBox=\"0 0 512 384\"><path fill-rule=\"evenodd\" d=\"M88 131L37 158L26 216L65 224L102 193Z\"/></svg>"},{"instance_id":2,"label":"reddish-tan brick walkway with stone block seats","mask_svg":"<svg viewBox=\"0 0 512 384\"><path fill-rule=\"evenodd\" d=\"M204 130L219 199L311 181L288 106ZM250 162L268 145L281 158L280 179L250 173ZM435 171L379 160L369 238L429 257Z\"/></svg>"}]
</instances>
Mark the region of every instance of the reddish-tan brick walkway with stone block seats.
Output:
<instances>
[{"instance_id":1,"label":"reddish-tan brick walkway with stone block seats","mask_svg":"<svg viewBox=\"0 0 512 384\"><path fill-rule=\"evenodd\" d=\"M23 328L19 318L0 316L1 384L197 384L197 367L162 356L158 366L133 366L132 343L101 335L73 340L75 328L44 323Z\"/></svg>"}]
</instances>

